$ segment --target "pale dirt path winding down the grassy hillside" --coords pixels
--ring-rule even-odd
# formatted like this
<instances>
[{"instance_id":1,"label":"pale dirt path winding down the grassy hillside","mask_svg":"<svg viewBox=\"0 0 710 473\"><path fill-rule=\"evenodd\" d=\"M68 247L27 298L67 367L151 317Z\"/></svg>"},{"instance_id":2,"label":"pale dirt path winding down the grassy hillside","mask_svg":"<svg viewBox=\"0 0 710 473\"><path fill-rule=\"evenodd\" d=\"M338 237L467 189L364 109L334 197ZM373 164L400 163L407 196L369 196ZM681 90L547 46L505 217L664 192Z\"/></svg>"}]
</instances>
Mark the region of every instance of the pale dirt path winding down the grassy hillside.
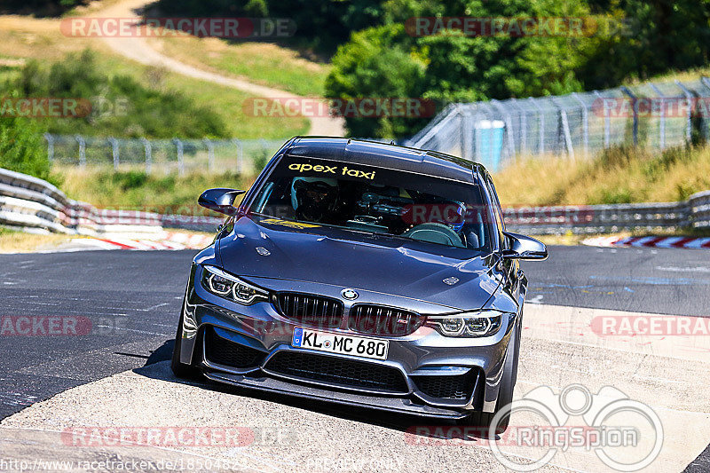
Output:
<instances>
[{"instance_id":1,"label":"pale dirt path winding down the grassy hillside","mask_svg":"<svg viewBox=\"0 0 710 473\"><path fill-rule=\"evenodd\" d=\"M99 12L93 13L92 16L101 18L136 18L136 11L143 8L144 5L150 3L149 0L125 0L118 4L113 4ZM218 83L233 87L240 91L248 92L249 94L258 97L266 98L288 98L297 99L299 96L287 91L264 87L256 83L250 83L241 79L227 77L212 72L198 69L197 67L188 66L176 59L165 56L161 52L155 51L146 38L142 37L105 37L103 40L116 52L122 54L126 58L138 61L141 64L165 67L177 74L187 75L195 79L201 79L211 83ZM328 116L309 117L311 121L311 129L309 134L322 136L343 136L344 122L342 118L333 118Z\"/></svg>"}]
</instances>

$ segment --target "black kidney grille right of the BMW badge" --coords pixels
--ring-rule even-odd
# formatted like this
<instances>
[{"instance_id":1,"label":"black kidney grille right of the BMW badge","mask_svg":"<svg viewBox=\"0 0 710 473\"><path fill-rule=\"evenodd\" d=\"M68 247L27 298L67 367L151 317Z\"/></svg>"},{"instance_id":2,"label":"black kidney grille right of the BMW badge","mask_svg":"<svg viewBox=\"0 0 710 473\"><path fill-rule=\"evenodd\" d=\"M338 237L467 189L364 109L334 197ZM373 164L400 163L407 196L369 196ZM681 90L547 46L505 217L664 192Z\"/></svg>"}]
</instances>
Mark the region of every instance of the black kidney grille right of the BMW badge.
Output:
<instances>
[{"instance_id":1,"label":"black kidney grille right of the BMW badge","mask_svg":"<svg viewBox=\"0 0 710 473\"><path fill-rule=\"evenodd\" d=\"M348 328L367 335L410 335L423 322L424 318L412 311L359 304L350 311Z\"/></svg>"}]
</instances>

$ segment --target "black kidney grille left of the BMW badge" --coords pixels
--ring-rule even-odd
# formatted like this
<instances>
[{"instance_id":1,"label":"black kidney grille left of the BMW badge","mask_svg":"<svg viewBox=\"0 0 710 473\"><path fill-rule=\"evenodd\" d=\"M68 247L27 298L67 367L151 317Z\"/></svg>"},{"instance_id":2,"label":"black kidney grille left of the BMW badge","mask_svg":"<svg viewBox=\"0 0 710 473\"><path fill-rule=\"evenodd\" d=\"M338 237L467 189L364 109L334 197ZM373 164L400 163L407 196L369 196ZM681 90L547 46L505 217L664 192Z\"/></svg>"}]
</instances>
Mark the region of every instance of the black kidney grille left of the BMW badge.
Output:
<instances>
[{"instance_id":1,"label":"black kidney grille left of the BMW badge","mask_svg":"<svg viewBox=\"0 0 710 473\"><path fill-rule=\"evenodd\" d=\"M315 327L340 327L343 303L337 299L299 293L280 293L276 296L278 309L287 319Z\"/></svg>"}]
</instances>

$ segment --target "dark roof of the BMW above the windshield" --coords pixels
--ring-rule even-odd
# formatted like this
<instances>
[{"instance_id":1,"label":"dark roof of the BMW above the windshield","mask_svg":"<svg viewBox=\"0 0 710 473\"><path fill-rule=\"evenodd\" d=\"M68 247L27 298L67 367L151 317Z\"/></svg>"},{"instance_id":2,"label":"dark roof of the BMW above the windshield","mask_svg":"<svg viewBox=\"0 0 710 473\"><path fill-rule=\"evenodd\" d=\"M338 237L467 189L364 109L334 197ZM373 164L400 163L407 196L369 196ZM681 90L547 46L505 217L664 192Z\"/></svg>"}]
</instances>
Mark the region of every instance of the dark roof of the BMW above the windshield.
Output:
<instances>
[{"instance_id":1,"label":"dark roof of the BMW above the windshield","mask_svg":"<svg viewBox=\"0 0 710 473\"><path fill-rule=\"evenodd\" d=\"M444 177L470 184L475 174L485 175L477 162L449 154L355 138L296 137L285 146L285 156L320 158L366 166L399 169L428 176Z\"/></svg>"}]
</instances>

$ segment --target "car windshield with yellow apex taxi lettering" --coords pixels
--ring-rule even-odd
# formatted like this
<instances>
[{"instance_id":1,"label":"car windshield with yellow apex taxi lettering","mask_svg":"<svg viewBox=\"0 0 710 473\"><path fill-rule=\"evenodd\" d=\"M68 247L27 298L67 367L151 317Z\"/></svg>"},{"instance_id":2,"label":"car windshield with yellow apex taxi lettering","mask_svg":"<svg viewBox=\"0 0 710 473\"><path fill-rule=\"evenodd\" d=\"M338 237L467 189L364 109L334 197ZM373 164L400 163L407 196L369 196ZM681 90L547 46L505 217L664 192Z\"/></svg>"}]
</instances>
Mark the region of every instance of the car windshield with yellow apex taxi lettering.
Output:
<instances>
[{"instance_id":1,"label":"car windshield with yellow apex taxi lettering","mask_svg":"<svg viewBox=\"0 0 710 473\"><path fill-rule=\"evenodd\" d=\"M455 248L490 248L474 184L347 162L286 157L249 212Z\"/></svg>"}]
</instances>

